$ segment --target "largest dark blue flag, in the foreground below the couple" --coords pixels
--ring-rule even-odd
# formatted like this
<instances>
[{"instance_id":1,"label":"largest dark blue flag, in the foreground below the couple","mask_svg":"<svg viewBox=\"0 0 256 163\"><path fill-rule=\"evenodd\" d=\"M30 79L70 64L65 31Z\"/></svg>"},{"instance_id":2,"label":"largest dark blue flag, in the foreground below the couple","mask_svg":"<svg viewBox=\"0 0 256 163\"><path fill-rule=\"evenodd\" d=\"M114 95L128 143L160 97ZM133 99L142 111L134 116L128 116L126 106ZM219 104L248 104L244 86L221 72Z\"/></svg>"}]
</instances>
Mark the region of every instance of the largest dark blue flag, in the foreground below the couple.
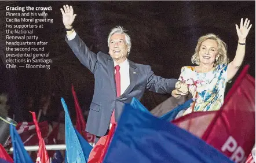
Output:
<instances>
[{"instance_id":1,"label":"largest dark blue flag, in the foreground below the couple","mask_svg":"<svg viewBox=\"0 0 256 163\"><path fill-rule=\"evenodd\" d=\"M232 161L184 129L126 104L104 162Z\"/></svg>"}]
</instances>

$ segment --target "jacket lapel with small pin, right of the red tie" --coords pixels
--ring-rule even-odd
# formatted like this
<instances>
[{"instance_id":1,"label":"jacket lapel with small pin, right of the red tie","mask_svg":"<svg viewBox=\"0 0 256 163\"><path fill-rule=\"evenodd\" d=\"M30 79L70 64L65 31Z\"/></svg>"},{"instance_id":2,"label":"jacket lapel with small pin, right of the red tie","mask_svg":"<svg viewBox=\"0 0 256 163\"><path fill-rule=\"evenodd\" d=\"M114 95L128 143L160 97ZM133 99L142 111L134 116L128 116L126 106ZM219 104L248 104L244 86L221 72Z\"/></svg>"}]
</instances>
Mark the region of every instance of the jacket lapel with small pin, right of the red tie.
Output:
<instances>
[{"instance_id":1,"label":"jacket lapel with small pin, right of the red tie","mask_svg":"<svg viewBox=\"0 0 256 163\"><path fill-rule=\"evenodd\" d=\"M130 75L130 85L129 87L125 90L125 92L123 92L122 95L120 95L119 98L123 98L125 97L127 94L129 94L129 92L131 90L133 90L134 86L136 85L137 83L137 77L138 77L138 70L137 70L137 66L134 64L134 62L129 61L129 75Z\"/></svg>"}]
</instances>

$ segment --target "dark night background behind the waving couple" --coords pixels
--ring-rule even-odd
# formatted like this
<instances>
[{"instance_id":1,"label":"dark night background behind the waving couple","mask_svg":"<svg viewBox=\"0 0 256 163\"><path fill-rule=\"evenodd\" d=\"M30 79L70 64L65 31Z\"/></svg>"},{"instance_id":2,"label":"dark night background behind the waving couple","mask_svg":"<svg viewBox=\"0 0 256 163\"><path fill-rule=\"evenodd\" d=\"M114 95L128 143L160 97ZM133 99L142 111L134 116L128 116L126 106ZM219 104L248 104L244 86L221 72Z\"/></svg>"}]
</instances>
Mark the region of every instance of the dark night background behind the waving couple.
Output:
<instances>
[{"instance_id":1,"label":"dark night background behind the waving couple","mask_svg":"<svg viewBox=\"0 0 256 163\"><path fill-rule=\"evenodd\" d=\"M77 14L74 28L92 51L108 53L107 36L111 28L121 25L131 36L131 61L152 66L156 75L178 78L181 67L191 64L197 40L214 33L228 45L232 61L237 47L235 24L250 18L253 28L247 36L246 57L250 75L255 77L255 1L1 1L1 55L5 55L5 7L52 6L53 24L35 30L39 40L47 41L53 60L51 69L10 71L1 62L0 92L8 92L13 108L22 108L28 95L40 97L54 92L72 105L71 83L82 105L89 107L94 78L80 64L65 43L60 8L72 5ZM232 82L233 83L233 82ZM228 84L229 89L231 84ZM169 95L145 92L142 102L152 109Z\"/></svg>"}]
</instances>

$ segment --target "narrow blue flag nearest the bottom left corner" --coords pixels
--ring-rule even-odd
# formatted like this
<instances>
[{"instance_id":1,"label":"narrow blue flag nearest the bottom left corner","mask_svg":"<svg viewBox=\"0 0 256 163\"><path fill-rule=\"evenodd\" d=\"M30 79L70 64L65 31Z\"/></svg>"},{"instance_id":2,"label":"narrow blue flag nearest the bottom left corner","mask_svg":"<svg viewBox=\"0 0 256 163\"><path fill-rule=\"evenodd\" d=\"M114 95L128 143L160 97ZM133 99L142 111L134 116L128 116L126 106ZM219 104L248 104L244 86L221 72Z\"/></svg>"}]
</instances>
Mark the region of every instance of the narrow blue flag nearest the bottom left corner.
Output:
<instances>
[{"instance_id":1,"label":"narrow blue flag nearest the bottom left corner","mask_svg":"<svg viewBox=\"0 0 256 163\"><path fill-rule=\"evenodd\" d=\"M25 150L20 135L12 124L10 124L10 137L12 138L13 161L15 163L34 163Z\"/></svg>"}]
</instances>

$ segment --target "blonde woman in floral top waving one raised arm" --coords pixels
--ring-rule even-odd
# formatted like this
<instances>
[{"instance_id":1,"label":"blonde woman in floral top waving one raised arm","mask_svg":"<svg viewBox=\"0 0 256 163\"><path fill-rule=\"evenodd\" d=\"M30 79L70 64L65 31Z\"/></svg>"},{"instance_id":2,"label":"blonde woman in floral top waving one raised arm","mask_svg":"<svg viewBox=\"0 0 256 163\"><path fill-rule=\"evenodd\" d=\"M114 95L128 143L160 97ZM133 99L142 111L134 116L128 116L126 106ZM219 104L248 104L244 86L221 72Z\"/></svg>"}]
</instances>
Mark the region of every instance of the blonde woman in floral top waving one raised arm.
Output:
<instances>
[{"instance_id":1,"label":"blonde woman in floral top waving one raised arm","mask_svg":"<svg viewBox=\"0 0 256 163\"><path fill-rule=\"evenodd\" d=\"M180 82L176 84L176 89L171 94L175 98L185 95L181 93L184 90L181 90L180 87L187 84L187 93L191 92L193 97L197 97L193 108L195 112L220 109L224 102L226 82L236 75L242 65L246 49L246 37L251 26L248 18L244 22L243 18L241 19L240 28L236 25L237 50L234 60L229 64L226 43L214 34L201 36L195 54L191 58L192 63L198 66L182 67ZM191 112L192 107L188 108L184 114Z\"/></svg>"}]
</instances>

